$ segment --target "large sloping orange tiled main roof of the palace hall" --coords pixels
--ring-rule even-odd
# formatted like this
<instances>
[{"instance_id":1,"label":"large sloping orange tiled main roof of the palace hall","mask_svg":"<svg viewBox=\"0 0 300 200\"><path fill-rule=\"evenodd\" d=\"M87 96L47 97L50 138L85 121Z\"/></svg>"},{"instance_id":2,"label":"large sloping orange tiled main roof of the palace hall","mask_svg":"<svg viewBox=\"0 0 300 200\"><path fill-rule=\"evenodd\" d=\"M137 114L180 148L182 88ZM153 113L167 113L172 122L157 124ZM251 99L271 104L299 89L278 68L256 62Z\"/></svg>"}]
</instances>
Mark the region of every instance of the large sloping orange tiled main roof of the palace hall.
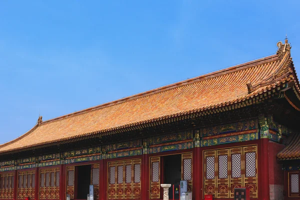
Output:
<instances>
[{"instance_id":1,"label":"large sloping orange tiled main roof of the palace hall","mask_svg":"<svg viewBox=\"0 0 300 200\"><path fill-rule=\"evenodd\" d=\"M282 81L296 79L292 73L289 44L287 41L286 44L278 42L277 46L277 53L271 56L50 120L39 120L22 136L0 145L0 152L86 135L108 134L109 131L122 131L122 128L244 101Z\"/></svg>"}]
</instances>

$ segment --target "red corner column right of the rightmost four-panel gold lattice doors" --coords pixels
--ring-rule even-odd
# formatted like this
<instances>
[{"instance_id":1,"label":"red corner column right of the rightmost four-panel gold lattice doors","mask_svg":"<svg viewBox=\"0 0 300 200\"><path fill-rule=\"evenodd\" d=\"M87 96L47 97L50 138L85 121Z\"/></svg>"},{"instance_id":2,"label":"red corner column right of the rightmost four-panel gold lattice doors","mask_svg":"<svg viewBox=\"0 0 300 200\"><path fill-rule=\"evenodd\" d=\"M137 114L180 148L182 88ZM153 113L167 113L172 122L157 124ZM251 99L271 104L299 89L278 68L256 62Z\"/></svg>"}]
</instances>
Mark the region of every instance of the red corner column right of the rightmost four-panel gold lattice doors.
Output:
<instances>
[{"instance_id":1,"label":"red corner column right of the rightmost four-panel gold lattice doors","mask_svg":"<svg viewBox=\"0 0 300 200\"><path fill-rule=\"evenodd\" d=\"M268 138L260 139L260 185L261 200L269 200ZM259 153L259 152L258 152ZM259 192L258 190L258 192Z\"/></svg>"}]
</instances>

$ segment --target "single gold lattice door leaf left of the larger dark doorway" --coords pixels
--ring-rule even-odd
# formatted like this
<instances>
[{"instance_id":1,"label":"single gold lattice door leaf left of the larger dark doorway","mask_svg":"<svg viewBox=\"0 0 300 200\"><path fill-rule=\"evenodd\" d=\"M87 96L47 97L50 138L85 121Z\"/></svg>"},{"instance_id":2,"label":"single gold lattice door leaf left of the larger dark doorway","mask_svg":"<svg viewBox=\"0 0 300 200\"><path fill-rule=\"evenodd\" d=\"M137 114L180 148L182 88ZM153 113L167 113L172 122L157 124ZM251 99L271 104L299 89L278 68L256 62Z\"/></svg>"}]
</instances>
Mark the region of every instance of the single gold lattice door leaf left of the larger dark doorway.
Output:
<instances>
[{"instance_id":1,"label":"single gold lattice door leaf left of the larger dark doorway","mask_svg":"<svg viewBox=\"0 0 300 200\"><path fill-rule=\"evenodd\" d=\"M150 158L150 198L160 198L160 157Z\"/></svg>"}]
</instances>

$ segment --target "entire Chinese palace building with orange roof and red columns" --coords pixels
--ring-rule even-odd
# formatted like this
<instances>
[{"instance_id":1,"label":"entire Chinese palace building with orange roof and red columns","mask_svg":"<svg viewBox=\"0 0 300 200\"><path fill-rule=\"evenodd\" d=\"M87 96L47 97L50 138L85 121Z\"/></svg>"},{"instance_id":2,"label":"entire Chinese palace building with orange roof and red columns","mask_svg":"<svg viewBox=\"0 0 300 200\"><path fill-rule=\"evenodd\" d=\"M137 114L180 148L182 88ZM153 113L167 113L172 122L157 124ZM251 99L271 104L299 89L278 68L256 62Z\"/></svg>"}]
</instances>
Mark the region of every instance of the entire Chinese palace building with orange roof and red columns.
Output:
<instances>
[{"instance_id":1,"label":"entire Chinese palace building with orange roof and red columns","mask_svg":"<svg viewBox=\"0 0 300 200\"><path fill-rule=\"evenodd\" d=\"M0 145L0 199L300 199L300 84L275 54L37 123ZM172 190L172 189L171 189ZM170 192L170 198L172 193Z\"/></svg>"}]
</instances>

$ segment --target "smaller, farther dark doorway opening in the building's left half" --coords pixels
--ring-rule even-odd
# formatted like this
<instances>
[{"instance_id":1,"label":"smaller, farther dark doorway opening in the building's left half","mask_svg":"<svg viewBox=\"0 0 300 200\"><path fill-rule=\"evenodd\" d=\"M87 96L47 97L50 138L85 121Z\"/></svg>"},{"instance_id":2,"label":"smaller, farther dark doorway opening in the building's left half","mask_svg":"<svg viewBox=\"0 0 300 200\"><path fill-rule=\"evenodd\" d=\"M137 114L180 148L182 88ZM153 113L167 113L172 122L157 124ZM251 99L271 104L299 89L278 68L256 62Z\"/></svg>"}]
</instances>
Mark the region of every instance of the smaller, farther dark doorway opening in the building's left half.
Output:
<instances>
[{"instance_id":1,"label":"smaller, farther dark doorway opening in the building's left half","mask_svg":"<svg viewBox=\"0 0 300 200\"><path fill-rule=\"evenodd\" d=\"M91 166L89 164L76 166L76 199L86 199L86 196L89 193L90 168Z\"/></svg>"}]
</instances>

